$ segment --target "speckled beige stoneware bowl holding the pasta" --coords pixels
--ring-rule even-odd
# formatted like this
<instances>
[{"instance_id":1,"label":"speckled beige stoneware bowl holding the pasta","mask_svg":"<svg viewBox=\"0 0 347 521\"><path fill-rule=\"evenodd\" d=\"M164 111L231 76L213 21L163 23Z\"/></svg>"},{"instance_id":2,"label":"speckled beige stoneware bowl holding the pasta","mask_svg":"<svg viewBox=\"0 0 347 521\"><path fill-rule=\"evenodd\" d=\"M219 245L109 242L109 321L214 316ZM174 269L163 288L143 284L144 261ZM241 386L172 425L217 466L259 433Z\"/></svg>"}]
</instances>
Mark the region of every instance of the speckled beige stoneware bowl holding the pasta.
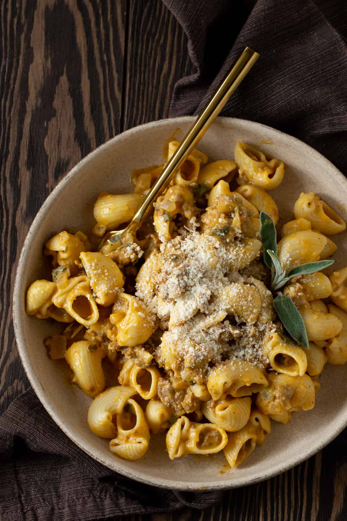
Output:
<instances>
[{"instance_id":1,"label":"speckled beige stoneware bowl holding the pasta","mask_svg":"<svg viewBox=\"0 0 347 521\"><path fill-rule=\"evenodd\" d=\"M91 399L69 384L65 362L54 362L46 354L43 340L53 333L54 326L27 316L24 305L31 282L43 278L45 241L57 230L70 226L84 232L90 230L98 193L132 191L131 171L162 163L167 138L173 132L176 139L182 138L193 120L169 119L128 130L85 157L58 184L38 212L23 246L14 293L14 323L18 350L38 398L60 428L85 452L120 474L151 485L212 490L241 487L275 476L335 438L347 425L347 367L327 365L314 409L294 413L288 425L272 421L272 433L263 447L256 448L237 469L223 472L223 452L212 457L187 456L170 461L164 437L157 436L152 436L150 449L142 459L130 462L114 456L108 449L108 440L89 430L87 409ZM322 155L289 135L252 121L218 118L199 148L212 159L233 159L237 140L258 145L286 164L284 181L271 192L281 221L293 218L293 205L302 191L316 192L347 219L347 180ZM346 232L333 238L339 246L336 268L346 264L345 237Z\"/></svg>"}]
</instances>

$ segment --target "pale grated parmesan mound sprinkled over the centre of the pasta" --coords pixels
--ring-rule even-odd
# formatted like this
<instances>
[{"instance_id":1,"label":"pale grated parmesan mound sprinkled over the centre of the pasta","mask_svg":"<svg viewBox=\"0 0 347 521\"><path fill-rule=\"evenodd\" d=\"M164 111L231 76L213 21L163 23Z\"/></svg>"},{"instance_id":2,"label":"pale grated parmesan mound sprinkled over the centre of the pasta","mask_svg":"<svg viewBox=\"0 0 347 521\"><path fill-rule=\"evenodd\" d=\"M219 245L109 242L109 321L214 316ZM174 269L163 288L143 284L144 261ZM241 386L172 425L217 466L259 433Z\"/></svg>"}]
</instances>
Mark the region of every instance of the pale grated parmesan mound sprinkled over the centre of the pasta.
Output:
<instances>
[{"instance_id":1,"label":"pale grated parmesan mound sprinkled over the centre of the pasta","mask_svg":"<svg viewBox=\"0 0 347 521\"><path fill-rule=\"evenodd\" d=\"M147 259L136 283L136 296L167 329L155 352L158 364L177 378L198 383L207 380L211 365L225 359L266 367L263 339L274 327L273 322L249 325L226 311L230 294L234 294L255 316L258 314L246 288L250 284L254 287L257 276L263 277L260 263L248 266L245 275L233 271L230 266L245 255L242 242L230 243L197 232L196 217L189 223L192 231L180 228L180 235L161 244L160 251ZM228 298L223 298L226 286ZM267 293L271 295L264 287L261 296ZM267 306L262 298L263 305Z\"/></svg>"}]
</instances>

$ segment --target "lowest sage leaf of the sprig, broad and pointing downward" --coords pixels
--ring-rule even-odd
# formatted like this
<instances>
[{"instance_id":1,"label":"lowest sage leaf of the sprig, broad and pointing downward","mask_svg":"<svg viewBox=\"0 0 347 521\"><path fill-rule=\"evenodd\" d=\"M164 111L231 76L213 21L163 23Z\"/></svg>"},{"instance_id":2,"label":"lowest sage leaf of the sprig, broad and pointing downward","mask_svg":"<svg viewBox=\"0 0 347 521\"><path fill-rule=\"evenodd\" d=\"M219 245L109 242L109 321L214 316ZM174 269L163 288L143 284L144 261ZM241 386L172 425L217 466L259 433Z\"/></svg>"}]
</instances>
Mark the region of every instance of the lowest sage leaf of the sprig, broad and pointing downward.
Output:
<instances>
[{"instance_id":1,"label":"lowest sage leaf of the sprig, broad and pointing downward","mask_svg":"<svg viewBox=\"0 0 347 521\"><path fill-rule=\"evenodd\" d=\"M299 344L304 345L306 349L310 349L304 321L297 306L295 306L289 296L277 295L276 299L274 299L274 307L290 336Z\"/></svg>"}]
</instances>

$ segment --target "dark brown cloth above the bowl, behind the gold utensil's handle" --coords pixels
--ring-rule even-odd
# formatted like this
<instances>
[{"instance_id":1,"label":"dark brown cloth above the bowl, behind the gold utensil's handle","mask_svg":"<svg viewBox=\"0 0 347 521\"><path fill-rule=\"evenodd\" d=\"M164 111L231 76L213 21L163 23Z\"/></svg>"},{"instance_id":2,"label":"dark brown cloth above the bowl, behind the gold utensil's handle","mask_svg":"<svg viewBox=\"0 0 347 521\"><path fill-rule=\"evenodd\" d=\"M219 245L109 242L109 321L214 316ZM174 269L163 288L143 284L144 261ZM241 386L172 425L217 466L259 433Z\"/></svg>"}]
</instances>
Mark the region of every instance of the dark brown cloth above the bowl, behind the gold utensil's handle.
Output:
<instances>
[{"instance_id":1,"label":"dark brown cloth above the bowl, behind the gold utensil's handle","mask_svg":"<svg viewBox=\"0 0 347 521\"><path fill-rule=\"evenodd\" d=\"M260 58L221 116L259 121L310 144L347 175L345 0L164 0L182 24L195 75L170 117L198 114L246 45Z\"/></svg>"}]
</instances>

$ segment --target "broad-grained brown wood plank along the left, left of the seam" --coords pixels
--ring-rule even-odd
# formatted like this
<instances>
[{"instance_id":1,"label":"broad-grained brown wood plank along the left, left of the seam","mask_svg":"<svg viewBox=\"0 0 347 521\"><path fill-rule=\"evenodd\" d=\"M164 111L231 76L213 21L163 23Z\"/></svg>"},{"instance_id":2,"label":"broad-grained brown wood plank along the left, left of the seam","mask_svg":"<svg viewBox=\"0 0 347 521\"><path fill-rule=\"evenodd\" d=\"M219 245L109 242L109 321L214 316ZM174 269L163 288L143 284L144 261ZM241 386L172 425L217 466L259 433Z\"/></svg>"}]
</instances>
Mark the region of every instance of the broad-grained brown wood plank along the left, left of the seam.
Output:
<instances>
[{"instance_id":1,"label":"broad-grained brown wood plank along the left, left of the seam","mask_svg":"<svg viewBox=\"0 0 347 521\"><path fill-rule=\"evenodd\" d=\"M60 179L121 129L126 3L1 4L0 413L29 384L11 319L25 235Z\"/></svg>"}]
</instances>

